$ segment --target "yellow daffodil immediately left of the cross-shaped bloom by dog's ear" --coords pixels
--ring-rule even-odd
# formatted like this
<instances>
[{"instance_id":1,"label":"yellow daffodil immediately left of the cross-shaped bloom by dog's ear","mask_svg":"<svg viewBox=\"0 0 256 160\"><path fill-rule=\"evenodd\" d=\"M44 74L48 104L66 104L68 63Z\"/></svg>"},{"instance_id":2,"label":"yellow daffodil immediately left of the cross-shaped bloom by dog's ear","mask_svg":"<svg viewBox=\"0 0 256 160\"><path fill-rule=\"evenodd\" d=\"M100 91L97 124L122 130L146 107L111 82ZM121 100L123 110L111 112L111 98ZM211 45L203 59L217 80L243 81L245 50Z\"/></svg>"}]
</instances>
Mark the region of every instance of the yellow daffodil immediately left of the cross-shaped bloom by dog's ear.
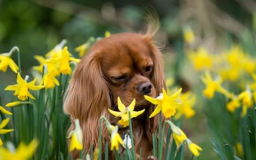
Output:
<instances>
[{"instance_id":1,"label":"yellow daffodil immediately left of the cross-shaped bloom by dog's ear","mask_svg":"<svg viewBox=\"0 0 256 160\"><path fill-rule=\"evenodd\" d=\"M44 69L47 67L47 71L52 73L53 76L58 76L60 74L57 63L52 62L50 59L45 59L40 55L35 55L34 58L40 63L39 66L33 67L39 73L43 73L43 67Z\"/></svg>"}]
</instances>

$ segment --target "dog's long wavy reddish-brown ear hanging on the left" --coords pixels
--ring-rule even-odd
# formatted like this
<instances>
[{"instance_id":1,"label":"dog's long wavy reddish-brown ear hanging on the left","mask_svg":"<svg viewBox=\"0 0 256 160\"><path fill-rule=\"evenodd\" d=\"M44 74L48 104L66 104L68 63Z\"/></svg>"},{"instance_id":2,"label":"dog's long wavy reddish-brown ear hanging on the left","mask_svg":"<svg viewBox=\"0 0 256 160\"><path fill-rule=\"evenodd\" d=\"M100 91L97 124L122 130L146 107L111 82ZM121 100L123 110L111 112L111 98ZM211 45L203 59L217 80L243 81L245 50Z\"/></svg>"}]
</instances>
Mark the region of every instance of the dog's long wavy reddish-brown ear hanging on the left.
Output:
<instances>
[{"instance_id":1,"label":"dog's long wavy reddish-brown ear hanging on the left","mask_svg":"<svg viewBox=\"0 0 256 160\"><path fill-rule=\"evenodd\" d=\"M100 63L91 51L78 63L71 78L63 110L70 116L69 132L74 130L75 119L79 119L84 140L84 154L99 146L99 119L109 119L110 95L102 75ZM106 127L102 126L102 145L110 139ZM104 148L104 147L102 147ZM78 152L74 152L74 157Z\"/></svg>"}]
</instances>

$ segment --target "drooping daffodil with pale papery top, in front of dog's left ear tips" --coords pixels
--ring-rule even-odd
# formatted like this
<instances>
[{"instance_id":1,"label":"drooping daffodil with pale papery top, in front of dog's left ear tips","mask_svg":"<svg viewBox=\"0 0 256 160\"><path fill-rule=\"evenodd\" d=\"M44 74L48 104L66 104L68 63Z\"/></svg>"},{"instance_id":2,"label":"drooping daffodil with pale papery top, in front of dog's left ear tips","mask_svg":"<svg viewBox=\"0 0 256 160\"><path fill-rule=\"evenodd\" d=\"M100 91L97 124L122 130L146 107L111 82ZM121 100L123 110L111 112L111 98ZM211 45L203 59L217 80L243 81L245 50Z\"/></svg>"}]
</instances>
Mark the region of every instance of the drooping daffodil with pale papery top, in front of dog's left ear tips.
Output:
<instances>
[{"instance_id":1,"label":"drooping daffodil with pale papery top, in front of dog's left ear tips","mask_svg":"<svg viewBox=\"0 0 256 160\"><path fill-rule=\"evenodd\" d=\"M83 150L83 132L79 125L79 119L75 120L75 130L71 131L67 138L71 137L69 151Z\"/></svg>"}]
</instances>

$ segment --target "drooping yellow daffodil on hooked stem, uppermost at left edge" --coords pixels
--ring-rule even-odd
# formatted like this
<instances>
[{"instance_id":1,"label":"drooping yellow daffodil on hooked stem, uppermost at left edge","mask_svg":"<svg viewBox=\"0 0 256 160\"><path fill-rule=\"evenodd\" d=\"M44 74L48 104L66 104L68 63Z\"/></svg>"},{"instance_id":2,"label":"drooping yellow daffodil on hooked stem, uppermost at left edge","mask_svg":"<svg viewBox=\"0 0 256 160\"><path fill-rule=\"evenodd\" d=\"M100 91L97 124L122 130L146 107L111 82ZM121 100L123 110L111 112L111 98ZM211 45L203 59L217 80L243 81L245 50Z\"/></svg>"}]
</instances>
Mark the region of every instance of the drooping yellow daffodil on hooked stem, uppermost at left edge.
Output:
<instances>
[{"instance_id":1,"label":"drooping yellow daffodil on hooked stem, uppermost at left edge","mask_svg":"<svg viewBox=\"0 0 256 160\"><path fill-rule=\"evenodd\" d=\"M9 66L12 69L12 71L14 71L14 73L18 72L19 67L11 58L12 53L17 49L17 47L13 47L9 53L0 54L0 70L5 72L7 67Z\"/></svg>"}]
</instances>

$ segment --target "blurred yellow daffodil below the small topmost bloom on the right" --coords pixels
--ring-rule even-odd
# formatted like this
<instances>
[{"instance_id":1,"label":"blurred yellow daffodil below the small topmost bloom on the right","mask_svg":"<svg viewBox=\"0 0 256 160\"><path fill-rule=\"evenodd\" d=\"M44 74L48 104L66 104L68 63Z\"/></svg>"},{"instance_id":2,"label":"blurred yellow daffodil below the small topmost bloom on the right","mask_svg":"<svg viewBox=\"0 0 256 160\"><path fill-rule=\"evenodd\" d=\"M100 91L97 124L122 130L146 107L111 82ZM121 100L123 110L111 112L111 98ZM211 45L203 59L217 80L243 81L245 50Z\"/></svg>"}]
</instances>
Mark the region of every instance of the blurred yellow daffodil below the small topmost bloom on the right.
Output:
<instances>
[{"instance_id":1,"label":"blurred yellow daffodil below the small topmost bloom on the right","mask_svg":"<svg viewBox=\"0 0 256 160\"><path fill-rule=\"evenodd\" d=\"M212 56L203 48L198 49L196 52L189 53L188 56L196 70L211 69L213 67Z\"/></svg>"}]
</instances>

